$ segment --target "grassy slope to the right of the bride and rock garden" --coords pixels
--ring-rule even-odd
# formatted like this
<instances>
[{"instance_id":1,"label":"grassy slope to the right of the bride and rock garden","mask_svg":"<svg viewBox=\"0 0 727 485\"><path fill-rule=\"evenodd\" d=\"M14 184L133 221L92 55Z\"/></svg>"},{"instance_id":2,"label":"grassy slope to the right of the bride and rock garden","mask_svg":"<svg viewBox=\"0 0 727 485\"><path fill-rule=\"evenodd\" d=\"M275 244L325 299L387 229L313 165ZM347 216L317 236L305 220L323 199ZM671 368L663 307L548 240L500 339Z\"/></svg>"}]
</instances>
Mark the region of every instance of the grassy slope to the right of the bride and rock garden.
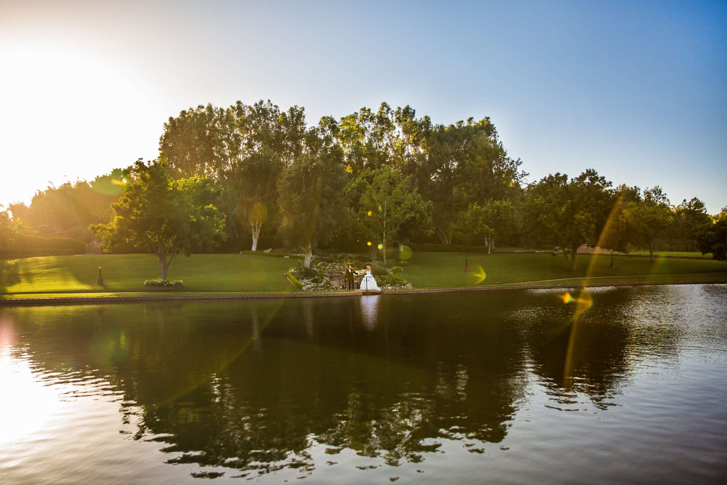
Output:
<instances>
[{"instance_id":1,"label":"grassy slope to the right of the bride and rock garden","mask_svg":"<svg viewBox=\"0 0 727 485\"><path fill-rule=\"evenodd\" d=\"M611 270L610 257L578 255L577 271L567 270L562 255L550 254L467 254L470 273L465 273L465 254L446 252L414 253L410 265L404 267L402 278L411 281L414 288L443 288L447 286L470 286L475 284L474 273L481 265L486 272L483 285L499 285L520 281L541 281L569 278L552 283L573 282L585 276L608 276L594 281L654 281L675 279L725 279L727 262L714 260L657 259L651 263L648 257L616 257L616 269ZM587 275L587 268L593 261L593 269ZM691 276L688 276L691 274ZM697 276L696 273L699 273ZM679 276L658 276L678 274ZM649 275L624 280L612 278L630 275ZM683 275L683 276L681 276ZM545 282L544 282L545 283Z\"/></svg>"}]
</instances>

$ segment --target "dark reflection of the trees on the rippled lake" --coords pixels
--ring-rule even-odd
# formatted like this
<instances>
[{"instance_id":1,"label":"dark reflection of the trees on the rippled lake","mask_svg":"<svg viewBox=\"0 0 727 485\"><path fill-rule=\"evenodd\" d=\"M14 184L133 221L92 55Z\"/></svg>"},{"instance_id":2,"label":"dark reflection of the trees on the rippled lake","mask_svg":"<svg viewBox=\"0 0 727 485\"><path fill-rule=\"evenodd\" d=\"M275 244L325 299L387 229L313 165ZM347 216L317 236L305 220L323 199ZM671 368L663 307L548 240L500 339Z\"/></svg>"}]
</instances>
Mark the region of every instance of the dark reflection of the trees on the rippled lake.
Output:
<instances>
[{"instance_id":1,"label":"dark reflection of the trees on the rippled lake","mask_svg":"<svg viewBox=\"0 0 727 485\"><path fill-rule=\"evenodd\" d=\"M701 332L676 310L663 324L673 294L604 289L577 327L552 292L508 292L9 308L0 342L34 380L67 385L61 398L116 401L119 434L158 443L169 465L416 477L427 460L486 460L518 417L609 412L640 366L678 366L685 339L723 352L710 318L727 291L707 292Z\"/></svg>"}]
</instances>

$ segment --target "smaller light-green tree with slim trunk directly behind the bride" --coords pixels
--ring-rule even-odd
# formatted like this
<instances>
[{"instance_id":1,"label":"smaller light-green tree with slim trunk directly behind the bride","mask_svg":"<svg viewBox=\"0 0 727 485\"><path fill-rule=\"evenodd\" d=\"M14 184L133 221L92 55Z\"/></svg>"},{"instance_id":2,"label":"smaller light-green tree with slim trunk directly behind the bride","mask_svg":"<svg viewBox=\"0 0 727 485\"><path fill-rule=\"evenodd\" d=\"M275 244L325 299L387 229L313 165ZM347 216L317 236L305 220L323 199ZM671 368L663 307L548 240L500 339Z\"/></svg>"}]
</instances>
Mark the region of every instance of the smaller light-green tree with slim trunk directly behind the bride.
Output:
<instances>
[{"instance_id":1,"label":"smaller light-green tree with slim trunk directly behind the bride","mask_svg":"<svg viewBox=\"0 0 727 485\"><path fill-rule=\"evenodd\" d=\"M420 231L432 233L433 204L423 201L410 182L411 178L403 178L396 169L379 169L358 177L358 223L376 246L381 245L384 264L387 246L400 241L404 228L416 225Z\"/></svg>"}]
</instances>

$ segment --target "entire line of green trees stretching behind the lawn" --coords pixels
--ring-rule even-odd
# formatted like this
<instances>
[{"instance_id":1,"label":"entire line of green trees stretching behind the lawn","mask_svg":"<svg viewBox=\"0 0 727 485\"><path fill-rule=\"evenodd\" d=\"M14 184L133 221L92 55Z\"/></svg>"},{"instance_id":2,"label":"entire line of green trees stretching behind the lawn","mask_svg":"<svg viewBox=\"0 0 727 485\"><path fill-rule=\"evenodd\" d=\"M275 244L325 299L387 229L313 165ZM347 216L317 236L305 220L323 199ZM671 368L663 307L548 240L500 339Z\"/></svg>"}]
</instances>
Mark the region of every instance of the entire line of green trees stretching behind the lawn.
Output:
<instances>
[{"instance_id":1,"label":"entire line of green trees stretching behind the lawn","mask_svg":"<svg viewBox=\"0 0 727 485\"><path fill-rule=\"evenodd\" d=\"M313 250L326 245L370 243L371 256L380 251L385 258L392 245L436 240L489 249L497 241L552 246L571 269L582 244L648 248L653 255L654 239L694 240L721 217L710 217L696 198L672 206L659 186L614 187L593 169L527 183L522 164L508 155L488 117L433 124L408 105L382 103L377 111L324 116L308 126L304 108L281 111L269 100L199 105L164 124L155 161L39 191L30 207L11 209L14 219L33 223L55 217L65 225L78 222L73 227L94 224L108 248L135 245L163 252L166 260L214 244L224 233L251 236L253 251L261 235L274 234L302 249L306 266ZM149 191L150 184L156 188ZM95 201L98 194L114 200L113 213L108 200L95 206L103 210L68 209L70 193L89 190ZM171 232L150 239L148 228L155 226L140 213L156 214L159 231ZM137 216L140 232L132 237L129 220ZM182 225L191 218L198 227L170 229L180 217ZM165 238L178 244L160 242Z\"/></svg>"}]
</instances>

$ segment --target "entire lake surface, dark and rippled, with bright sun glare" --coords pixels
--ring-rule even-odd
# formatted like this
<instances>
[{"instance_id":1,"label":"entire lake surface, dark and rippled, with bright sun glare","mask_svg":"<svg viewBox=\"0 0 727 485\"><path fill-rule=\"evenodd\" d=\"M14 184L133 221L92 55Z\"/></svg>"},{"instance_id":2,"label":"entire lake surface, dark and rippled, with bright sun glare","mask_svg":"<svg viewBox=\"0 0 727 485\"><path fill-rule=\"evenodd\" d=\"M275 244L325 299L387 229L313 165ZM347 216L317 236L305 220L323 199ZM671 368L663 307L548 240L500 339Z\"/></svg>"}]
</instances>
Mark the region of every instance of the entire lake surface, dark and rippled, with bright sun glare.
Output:
<instances>
[{"instance_id":1,"label":"entire lake surface, dark and rippled, with bright sun glare","mask_svg":"<svg viewBox=\"0 0 727 485\"><path fill-rule=\"evenodd\" d=\"M591 297L0 309L0 482L727 483L727 286Z\"/></svg>"}]
</instances>

